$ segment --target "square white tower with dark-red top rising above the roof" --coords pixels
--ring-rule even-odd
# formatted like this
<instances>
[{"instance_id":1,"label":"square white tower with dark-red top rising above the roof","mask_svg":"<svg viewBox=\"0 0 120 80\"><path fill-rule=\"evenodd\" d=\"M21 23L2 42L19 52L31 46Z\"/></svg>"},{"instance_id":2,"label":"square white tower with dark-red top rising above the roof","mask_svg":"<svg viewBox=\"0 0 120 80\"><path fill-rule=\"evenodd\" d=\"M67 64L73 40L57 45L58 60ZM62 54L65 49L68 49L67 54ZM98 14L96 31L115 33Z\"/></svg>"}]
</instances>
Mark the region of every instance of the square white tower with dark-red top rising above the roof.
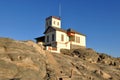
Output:
<instances>
[{"instance_id":1,"label":"square white tower with dark-red top rising above the roof","mask_svg":"<svg viewBox=\"0 0 120 80\"><path fill-rule=\"evenodd\" d=\"M56 17L56 16L50 16L50 17L46 18L45 30L48 27L61 28L61 19L59 17Z\"/></svg>"}]
</instances>

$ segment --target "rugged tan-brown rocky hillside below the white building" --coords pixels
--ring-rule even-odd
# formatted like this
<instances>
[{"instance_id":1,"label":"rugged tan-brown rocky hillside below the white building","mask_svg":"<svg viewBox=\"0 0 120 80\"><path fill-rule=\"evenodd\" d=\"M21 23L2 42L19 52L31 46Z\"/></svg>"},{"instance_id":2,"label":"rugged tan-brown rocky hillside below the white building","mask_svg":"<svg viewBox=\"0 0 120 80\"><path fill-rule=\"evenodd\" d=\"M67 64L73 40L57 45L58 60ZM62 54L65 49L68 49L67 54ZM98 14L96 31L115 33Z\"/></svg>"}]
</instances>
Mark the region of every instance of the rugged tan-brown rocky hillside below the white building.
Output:
<instances>
[{"instance_id":1,"label":"rugged tan-brown rocky hillside below the white building","mask_svg":"<svg viewBox=\"0 0 120 80\"><path fill-rule=\"evenodd\" d=\"M0 80L120 80L120 58L90 48L50 53L33 41L0 38Z\"/></svg>"}]
</instances>

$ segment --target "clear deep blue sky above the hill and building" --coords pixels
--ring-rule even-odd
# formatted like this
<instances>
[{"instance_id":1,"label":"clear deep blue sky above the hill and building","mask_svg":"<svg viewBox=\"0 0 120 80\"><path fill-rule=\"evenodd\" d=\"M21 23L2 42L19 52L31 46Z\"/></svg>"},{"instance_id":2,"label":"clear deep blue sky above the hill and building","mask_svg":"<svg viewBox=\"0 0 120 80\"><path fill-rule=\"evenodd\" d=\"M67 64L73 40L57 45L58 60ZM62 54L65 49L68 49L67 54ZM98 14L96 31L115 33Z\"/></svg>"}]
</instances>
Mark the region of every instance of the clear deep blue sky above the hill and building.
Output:
<instances>
[{"instance_id":1,"label":"clear deep blue sky above the hill and building","mask_svg":"<svg viewBox=\"0 0 120 80\"><path fill-rule=\"evenodd\" d=\"M34 40L45 18L59 16L62 28L87 35L87 47L120 57L120 0L0 0L0 37Z\"/></svg>"}]
</instances>

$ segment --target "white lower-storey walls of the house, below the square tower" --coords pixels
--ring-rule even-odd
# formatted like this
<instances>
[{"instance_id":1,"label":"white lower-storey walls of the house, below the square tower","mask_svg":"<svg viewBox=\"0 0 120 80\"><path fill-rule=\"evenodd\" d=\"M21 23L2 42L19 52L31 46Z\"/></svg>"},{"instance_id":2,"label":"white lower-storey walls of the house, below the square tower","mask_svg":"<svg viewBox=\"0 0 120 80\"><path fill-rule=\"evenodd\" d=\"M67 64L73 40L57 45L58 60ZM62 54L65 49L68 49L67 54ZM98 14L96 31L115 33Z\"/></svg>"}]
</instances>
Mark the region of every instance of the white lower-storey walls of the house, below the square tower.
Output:
<instances>
[{"instance_id":1,"label":"white lower-storey walls of the house, below the square tower","mask_svg":"<svg viewBox=\"0 0 120 80\"><path fill-rule=\"evenodd\" d=\"M52 34L55 35L54 41L52 41ZM61 35L64 35L64 41L61 41ZM47 36L49 36L49 42L47 42ZM80 37L80 43L76 42L76 37ZM53 43L55 43L55 45ZM69 42L69 37L65 32L53 31L45 35L45 44L53 44L56 46L57 51L55 52L59 52L60 49L70 49L70 44L86 47L86 36L75 34L75 42Z\"/></svg>"}]
</instances>

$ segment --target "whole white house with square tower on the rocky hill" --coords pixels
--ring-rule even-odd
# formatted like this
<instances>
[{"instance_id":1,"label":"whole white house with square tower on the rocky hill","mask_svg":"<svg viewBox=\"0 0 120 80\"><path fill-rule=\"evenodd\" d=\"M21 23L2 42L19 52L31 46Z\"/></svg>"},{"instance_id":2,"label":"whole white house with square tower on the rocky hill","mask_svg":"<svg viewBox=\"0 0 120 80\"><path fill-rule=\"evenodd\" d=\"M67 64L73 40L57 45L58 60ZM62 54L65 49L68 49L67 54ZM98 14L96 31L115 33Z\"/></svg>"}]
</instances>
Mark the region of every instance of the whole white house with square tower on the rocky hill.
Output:
<instances>
[{"instance_id":1,"label":"whole white house with square tower on the rocky hill","mask_svg":"<svg viewBox=\"0 0 120 80\"><path fill-rule=\"evenodd\" d=\"M61 19L56 16L46 18L44 36L36 38L38 44L43 43L46 50L60 52L60 49L86 47L86 36L72 29L63 30Z\"/></svg>"}]
</instances>

